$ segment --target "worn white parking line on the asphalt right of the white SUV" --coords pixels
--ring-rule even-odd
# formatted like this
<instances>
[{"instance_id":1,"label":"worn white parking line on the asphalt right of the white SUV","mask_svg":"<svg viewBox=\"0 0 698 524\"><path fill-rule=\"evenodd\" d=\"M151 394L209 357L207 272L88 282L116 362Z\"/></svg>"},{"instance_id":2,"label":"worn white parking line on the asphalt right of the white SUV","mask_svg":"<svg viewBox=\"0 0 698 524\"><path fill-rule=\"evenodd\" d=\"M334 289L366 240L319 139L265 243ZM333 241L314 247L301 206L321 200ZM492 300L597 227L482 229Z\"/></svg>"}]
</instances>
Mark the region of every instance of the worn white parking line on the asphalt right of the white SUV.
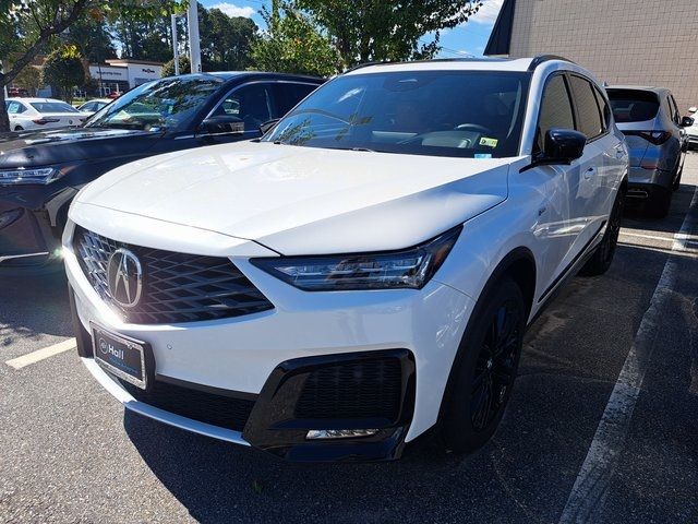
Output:
<instances>
[{"instance_id":1,"label":"worn white parking line on the asphalt right of the white SUV","mask_svg":"<svg viewBox=\"0 0 698 524\"><path fill-rule=\"evenodd\" d=\"M694 191L681 230L673 237L672 251L689 249L686 247L686 240L690 238L689 234L698 224L696 213L698 213L698 187ZM642 389L645 373L652 357L658 327L673 293L677 263L675 257L670 257L664 264L664 270L650 300L650 307L640 321L635 341L563 509L559 523L594 522L598 520L598 512L603 508L611 478L625 445L625 438L633 418L633 410Z\"/></svg>"}]
</instances>

